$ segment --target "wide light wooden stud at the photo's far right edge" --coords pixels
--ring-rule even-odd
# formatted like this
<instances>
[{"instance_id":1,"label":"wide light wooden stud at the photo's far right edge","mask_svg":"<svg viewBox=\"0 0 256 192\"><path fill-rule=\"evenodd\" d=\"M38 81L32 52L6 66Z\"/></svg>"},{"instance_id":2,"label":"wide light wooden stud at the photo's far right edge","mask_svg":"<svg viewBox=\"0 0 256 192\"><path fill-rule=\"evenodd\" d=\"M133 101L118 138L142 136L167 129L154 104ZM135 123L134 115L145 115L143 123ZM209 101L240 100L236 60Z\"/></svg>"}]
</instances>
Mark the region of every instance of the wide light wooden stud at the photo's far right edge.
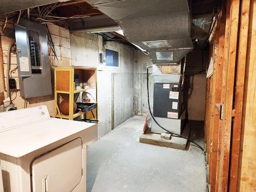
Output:
<instances>
[{"instance_id":1,"label":"wide light wooden stud at the photo's far right edge","mask_svg":"<svg viewBox=\"0 0 256 192\"><path fill-rule=\"evenodd\" d=\"M250 1L237 191L256 189L256 1Z\"/></svg>"}]
</instances>

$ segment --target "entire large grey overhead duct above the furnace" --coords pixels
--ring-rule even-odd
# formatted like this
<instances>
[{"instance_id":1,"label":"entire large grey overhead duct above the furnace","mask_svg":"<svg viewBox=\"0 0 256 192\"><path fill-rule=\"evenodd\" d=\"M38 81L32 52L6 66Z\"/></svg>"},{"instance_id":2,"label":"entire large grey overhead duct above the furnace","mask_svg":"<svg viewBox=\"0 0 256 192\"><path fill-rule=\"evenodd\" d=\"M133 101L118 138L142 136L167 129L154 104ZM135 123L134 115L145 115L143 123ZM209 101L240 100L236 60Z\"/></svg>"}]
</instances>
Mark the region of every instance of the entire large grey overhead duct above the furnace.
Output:
<instances>
[{"instance_id":1,"label":"entire large grey overhead duct above the furnace","mask_svg":"<svg viewBox=\"0 0 256 192\"><path fill-rule=\"evenodd\" d=\"M153 63L177 63L193 49L188 0L87 0L148 51Z\"/></svg>"}]
</instances>

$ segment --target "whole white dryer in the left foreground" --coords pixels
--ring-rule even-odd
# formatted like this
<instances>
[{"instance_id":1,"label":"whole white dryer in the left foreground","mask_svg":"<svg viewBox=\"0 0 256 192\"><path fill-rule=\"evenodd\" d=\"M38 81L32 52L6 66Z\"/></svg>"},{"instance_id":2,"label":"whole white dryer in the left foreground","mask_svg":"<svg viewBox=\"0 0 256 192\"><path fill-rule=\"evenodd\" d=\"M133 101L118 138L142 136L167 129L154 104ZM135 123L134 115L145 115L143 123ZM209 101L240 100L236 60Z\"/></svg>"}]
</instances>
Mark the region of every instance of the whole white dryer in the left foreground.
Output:
<instances>
[{"instance_id":1,"label":"whole white dryer in the left foreground","mask_svg":"<svg viewBox=\"0 0 256 192\"><path fill-rule=\"evenodd\" d=\"M5 192L86 191L86 145L97 124L51 118L46 106L0 113L0 122Z\"/></svg>"}]
</instances>

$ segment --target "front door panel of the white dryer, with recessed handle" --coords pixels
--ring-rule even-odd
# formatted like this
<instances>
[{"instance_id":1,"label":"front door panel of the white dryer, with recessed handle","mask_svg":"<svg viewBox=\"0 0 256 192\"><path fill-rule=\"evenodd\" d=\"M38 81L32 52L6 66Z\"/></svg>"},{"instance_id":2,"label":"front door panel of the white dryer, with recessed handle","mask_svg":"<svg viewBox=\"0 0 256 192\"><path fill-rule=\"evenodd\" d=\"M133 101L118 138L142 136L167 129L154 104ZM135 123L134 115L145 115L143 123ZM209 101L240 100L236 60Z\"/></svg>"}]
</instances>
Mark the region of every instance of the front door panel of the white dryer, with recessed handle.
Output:
<instances>
[{"instance_id":1,"label":"front door panel of the white dryer, with recessed handle","mask_svg":"<svg viewBox=\"0 0 256 192\"><path fill-rule=\"evenodd\" d=\"M80 137L39 156L32 162L33 191L74 190L83 177L82 161Z\"/></svg>"}]
</instances>

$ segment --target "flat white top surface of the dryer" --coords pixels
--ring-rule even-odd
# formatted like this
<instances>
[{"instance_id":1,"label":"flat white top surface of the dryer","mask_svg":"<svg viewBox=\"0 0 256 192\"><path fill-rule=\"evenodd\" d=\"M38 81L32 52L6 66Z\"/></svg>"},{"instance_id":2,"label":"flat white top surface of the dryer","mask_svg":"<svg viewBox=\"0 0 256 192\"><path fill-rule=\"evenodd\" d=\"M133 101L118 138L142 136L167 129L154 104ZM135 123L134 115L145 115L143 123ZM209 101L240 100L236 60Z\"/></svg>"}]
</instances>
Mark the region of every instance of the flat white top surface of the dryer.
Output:
<instances>
[{"instance_id":1,"label":"flat white top surface of the dryer","mask_svg":"<svg viewBox=\"0 0 256 192\"><path fill-rule=\"evenodd\" d=\"M0 133L0 153L22 157L92 126L97 124L56 118L25 124Z\"/></svg>"}]
</instances>

